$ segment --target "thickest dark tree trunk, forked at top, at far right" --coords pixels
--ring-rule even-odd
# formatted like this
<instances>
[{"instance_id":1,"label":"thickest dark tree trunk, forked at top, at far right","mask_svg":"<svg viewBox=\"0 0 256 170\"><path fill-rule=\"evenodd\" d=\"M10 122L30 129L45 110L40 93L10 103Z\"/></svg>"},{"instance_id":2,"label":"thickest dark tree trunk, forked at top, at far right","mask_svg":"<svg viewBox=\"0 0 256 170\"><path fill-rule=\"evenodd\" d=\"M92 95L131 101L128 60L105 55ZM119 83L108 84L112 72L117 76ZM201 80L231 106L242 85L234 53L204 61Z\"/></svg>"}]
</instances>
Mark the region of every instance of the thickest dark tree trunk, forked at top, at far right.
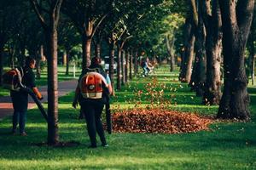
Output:
<instances>
[{"instance_id":1,"label":"thickest dark tree trunk, forked at top, at far right","mask_svg":"<svg viewBox=\"0 0 256 170\"><path fill-rule=\"evenodd\" d=\"M224 32L224 94L217 116L248 120L250 117L249 95L244 54L253 19L254 1L219 0L218 3Z\"/></svg>"}]
</instances>

